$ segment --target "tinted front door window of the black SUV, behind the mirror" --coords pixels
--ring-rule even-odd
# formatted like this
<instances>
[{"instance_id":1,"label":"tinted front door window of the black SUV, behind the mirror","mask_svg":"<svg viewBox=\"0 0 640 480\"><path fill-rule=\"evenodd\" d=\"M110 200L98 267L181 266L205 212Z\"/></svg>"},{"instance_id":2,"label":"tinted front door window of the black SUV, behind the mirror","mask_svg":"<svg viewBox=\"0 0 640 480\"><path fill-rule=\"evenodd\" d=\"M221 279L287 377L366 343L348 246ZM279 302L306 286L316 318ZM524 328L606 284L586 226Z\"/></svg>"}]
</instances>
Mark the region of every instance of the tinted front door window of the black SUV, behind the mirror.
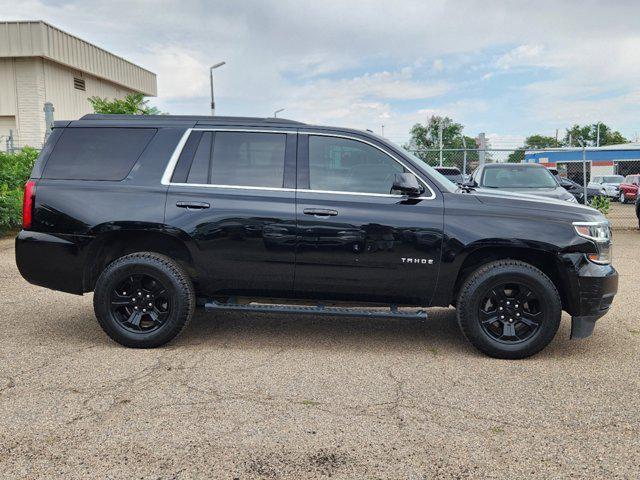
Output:
<instances>
[{"instance_id":1,"label":"tinted front door window of the black SUV, behind the mirror","mask_svg":"<svg viewBox=\"0 0 640 480\"><path fill-rule=\"evenodd\" d=\"M391 192L398 162L366 143L337 137L309 137L311 190L337 192Z\"/></svg>"}]
</instances>

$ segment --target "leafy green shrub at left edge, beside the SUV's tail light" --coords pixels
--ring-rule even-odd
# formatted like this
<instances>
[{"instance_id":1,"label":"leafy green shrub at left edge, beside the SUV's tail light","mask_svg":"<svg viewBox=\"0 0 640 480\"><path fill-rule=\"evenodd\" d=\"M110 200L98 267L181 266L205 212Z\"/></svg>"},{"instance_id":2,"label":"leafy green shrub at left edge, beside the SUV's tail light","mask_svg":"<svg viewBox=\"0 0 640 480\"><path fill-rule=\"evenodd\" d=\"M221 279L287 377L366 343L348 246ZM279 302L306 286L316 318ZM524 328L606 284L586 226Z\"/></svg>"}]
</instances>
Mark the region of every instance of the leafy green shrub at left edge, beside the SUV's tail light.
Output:
<instances>
[{"instance_id":1,"label":"leafy green shrub at left edge, beside the SUV's tail light","mask_svg":"<svg viewBox=\"0 0 640 480\"><path fill-rule=\"evenodd\" d=\"M22 224L24 184L36 158L38 151L30 147L17 153L0 152L0 233Z\"/></svg>"}]
</instances>

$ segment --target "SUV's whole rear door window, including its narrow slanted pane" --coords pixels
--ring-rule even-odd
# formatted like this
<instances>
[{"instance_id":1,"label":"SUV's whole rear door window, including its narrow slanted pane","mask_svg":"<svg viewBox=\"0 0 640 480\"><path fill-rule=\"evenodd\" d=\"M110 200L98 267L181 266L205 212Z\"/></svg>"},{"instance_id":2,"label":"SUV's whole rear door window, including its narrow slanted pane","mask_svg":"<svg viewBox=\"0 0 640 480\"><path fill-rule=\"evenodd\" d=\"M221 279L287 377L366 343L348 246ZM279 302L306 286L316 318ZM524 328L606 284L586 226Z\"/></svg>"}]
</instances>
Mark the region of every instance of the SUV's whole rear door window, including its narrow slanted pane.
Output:
<instances>
[{"instance_id":1,"label":"SUV's whole rear door window, including its narrow slanted pane","mask_svg":"<svg viewBox=\"0 0 640 480\"><path fill-rule=\"evenodd\" d=\"M283 133L193 132L171 181L282 188L286 142Z\"/></svg>"}]
</instances>

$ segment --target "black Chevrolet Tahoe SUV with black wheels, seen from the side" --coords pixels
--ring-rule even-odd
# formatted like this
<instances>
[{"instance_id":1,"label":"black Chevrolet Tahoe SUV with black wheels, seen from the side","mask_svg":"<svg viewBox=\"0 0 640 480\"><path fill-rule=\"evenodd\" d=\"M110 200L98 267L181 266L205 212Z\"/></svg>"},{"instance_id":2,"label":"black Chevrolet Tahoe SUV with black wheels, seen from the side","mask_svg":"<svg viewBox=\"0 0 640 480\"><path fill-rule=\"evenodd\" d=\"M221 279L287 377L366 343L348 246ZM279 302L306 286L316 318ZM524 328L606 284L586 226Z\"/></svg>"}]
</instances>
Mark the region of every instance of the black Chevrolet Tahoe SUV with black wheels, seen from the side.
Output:
<instances>
[{"instance_id":1,"label":"black Chevrolet Tahoe SUV with black wheels, seen from the side","mask_svg":"<svg viewBox=\"0 0 640 480\"><path fill-rule=\"evenodd\" d=\"M16 239L24 278L94 291L100 325L129 347L170 341L196 307L424 318L453 305L502 358L544 348L562 310L589 336L617 291L610 253L591 208L459 188L371 133L230 117L56 122Z\"/></svg>"}]
</instances>

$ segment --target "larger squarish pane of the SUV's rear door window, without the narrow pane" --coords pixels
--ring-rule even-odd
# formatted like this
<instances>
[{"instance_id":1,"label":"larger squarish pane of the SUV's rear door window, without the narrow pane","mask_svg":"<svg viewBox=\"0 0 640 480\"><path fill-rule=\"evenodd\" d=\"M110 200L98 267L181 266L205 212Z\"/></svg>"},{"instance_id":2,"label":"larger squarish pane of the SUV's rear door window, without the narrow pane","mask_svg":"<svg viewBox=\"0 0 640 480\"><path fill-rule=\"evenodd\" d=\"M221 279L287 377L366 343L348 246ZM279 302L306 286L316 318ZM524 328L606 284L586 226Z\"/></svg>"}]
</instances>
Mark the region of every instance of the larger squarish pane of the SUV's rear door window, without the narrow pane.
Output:
<instances>
[{"instance_id":1,"label":"larger squarish pane of the SUV's rear door window, without the narrow pane","mask_svg":"<svg viewBox=\"0 0 640 480\"><path fill-rule=\"evenodd\" d=\"M281 133L216 132L210 183L281 188L285 145Z\"/></svg>"}]
</instances>

